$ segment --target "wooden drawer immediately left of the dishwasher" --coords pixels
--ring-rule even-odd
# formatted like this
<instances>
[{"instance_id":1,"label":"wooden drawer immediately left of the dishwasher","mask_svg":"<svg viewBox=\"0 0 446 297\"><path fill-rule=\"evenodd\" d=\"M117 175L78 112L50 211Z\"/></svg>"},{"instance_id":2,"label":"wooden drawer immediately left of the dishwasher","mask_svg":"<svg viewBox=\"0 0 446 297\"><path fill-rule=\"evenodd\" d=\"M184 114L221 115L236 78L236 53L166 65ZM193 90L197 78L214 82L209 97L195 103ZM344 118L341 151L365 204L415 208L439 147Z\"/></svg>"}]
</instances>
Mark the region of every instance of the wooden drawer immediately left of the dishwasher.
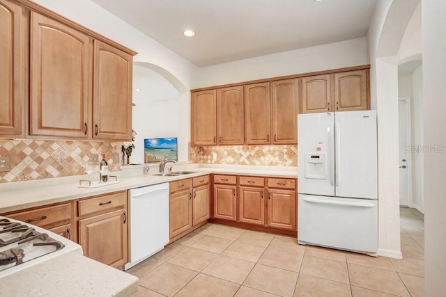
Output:
<instances>
[{"instance_id":1,"label":"wooden drawer immediately left of the dishwasher","mask_svg":"<svg viewBox=\"0 0 446 297\"><path fill-rule=\"evenodd\" d=\"M79 216L94 214L95 212L106 211L109 209L116 209L118 207L121 208L125 207L126 205L127 191L110 195L103 195L77 202Z\"/></svg>"}]
</instances>

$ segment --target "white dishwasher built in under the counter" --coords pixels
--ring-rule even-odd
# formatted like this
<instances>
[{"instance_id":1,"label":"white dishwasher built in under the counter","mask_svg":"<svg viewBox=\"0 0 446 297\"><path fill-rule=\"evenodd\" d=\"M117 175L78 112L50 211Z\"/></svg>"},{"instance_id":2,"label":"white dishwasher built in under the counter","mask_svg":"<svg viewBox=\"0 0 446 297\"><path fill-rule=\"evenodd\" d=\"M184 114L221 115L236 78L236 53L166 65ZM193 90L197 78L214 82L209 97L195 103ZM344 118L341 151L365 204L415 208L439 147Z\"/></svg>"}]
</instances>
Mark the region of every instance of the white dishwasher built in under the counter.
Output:
<instances>
[{"instance_id":1,"label":"white dishwasher built in under the counter","mask_svg":"<svg viewBox=\"0 0 446 297\"><path fill-rule=\"evenodd\" d=\"M169 183L129 190L129 263L144 261L169 243Z\"/></svg>"}]
</instances>

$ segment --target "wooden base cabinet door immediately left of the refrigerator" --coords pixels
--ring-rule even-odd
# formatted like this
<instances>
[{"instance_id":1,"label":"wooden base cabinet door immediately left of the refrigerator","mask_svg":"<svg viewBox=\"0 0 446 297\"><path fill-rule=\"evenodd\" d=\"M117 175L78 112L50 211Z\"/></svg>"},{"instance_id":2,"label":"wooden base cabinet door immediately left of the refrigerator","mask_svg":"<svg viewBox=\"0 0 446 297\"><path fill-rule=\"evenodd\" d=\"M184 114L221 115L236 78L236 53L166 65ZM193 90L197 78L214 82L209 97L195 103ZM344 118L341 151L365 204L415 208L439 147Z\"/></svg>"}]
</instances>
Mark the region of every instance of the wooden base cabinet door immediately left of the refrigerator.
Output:
<instances>
[{"instance_id":1,"label":"wooden base cabinet door immediately left of the refrigerator","mask_svg":"<svg viewBox=\"0 0 446 297\"><path fill-rule=\"evenodd\" d=\"M295 191L268 191L268 226L296 230Z\"/></svg>"}]
</instances>

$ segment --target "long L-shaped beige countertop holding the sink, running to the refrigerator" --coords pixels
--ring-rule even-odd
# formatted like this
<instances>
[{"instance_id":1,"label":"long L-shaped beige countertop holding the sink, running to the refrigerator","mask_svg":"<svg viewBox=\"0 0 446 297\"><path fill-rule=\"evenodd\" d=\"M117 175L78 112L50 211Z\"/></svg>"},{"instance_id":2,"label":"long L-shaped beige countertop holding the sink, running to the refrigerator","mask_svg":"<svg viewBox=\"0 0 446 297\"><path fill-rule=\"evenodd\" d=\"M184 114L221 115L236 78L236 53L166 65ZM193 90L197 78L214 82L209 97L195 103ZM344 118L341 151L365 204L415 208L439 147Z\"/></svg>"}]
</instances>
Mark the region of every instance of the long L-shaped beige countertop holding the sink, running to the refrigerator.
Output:
<instances>
[{"instance_id":1,"label":"long L-shaped beige countertop holding the sink, running to the refrigerator","mask_svg":"<svg viewBox=\"0 0 446 297\"><path fill-rule=\"evenodd\" d=\"M297 178L298 175L296 167L223 166L188 163L169 165L171 166L167 166L167 168L174 167L172 169L173 171L188 170L195 173L175 177L161 177L155 175L158 173L157 165L153 165L153 168L149 171L149 175L144 175L144 166L135 165L122 166L121 171L110 172L110 175L118 176L119 183L102 186L100 188L79 188L79 179L86 179L86 175L0 184L0 214L32 207L40 207L45 204L66 202L116 191L125 191L130 188L162 184L164 182L172 182L178 179L197 177L210 173L284 178ZM98 175L96 176L97 177L95 178L98 179Z\"/></svg>"}]
</instances>

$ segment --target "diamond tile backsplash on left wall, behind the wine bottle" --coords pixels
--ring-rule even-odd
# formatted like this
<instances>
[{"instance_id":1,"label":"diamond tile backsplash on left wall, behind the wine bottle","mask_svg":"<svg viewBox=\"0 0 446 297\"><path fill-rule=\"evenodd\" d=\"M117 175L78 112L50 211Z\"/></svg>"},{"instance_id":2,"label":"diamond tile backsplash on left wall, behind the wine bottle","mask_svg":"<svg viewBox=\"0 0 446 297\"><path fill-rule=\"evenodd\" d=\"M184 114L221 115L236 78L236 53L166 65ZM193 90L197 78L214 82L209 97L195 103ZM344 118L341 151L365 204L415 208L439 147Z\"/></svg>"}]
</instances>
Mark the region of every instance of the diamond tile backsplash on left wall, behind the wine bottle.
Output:
<instances>
[{"instance_id":1,"label":"diamond tile backsplash on left wall, behind the wine bottle","mask_svg":"<svg viewBox=\"0 0 446 297\"><path fill-rule=\"evenodd\" d=\"M91 154L105 153L109 170L119 170L114 152L121 153L121 143L116 150L116 143L107 141L0 140L0 156L10 156L10 171L0 172L0 183L84 175Z\"/></svg>"}]
</instances>

